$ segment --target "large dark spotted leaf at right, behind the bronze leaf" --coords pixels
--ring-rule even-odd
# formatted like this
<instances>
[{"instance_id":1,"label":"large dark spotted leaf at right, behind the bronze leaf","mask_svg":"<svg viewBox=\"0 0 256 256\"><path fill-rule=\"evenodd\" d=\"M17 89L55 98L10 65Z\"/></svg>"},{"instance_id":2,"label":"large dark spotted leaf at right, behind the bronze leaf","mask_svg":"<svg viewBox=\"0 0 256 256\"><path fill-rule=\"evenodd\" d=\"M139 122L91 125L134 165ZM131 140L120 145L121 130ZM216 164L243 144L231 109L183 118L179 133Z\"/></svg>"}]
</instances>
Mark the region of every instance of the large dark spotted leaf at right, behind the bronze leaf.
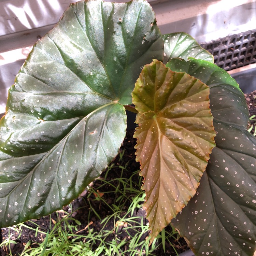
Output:
<instances>
[{"instance_id":1,"label":"large dark spotted leaf at right, behind the bronze leaf","mask_svg":"<svg viewBox=\"0 0 256 256\"><path fill-rule=\"evenodd\" d=\"M207 61L171 60L172 70L210 86L217 132L197 194L172 220L196 255L253 255L256 241L256 139L247 131L244 95L223 69Z\"/></svg>"}]
</instances>

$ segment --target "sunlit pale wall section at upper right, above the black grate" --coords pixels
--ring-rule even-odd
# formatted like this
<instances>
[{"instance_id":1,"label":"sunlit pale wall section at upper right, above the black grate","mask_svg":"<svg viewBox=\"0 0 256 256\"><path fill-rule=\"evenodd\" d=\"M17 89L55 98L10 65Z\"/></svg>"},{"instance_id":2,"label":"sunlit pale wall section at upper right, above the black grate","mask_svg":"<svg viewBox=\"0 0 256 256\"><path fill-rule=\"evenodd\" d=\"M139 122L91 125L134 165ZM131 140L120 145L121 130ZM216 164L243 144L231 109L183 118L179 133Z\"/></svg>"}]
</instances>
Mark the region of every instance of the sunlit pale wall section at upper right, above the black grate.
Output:
<instances>
[{"instance_id":1,"label":"sunlit pale wall section at upper right, above the black grate","mask_svg":"<svg viewBox=\"0 0 256 256\"><path fill-rule=\"evenodd\" d=\"M199 0L195 5L194 1L191 1L191 4L187 4L187 0L174 1L173 15L183 15L184 18L171 18L173 22L161 25L161 32L166 34L183 31L202 43L255 29L256 1L245 4L243 2ZM165 3L166 8L169 4Z\"/></svg>"}]
</instances>

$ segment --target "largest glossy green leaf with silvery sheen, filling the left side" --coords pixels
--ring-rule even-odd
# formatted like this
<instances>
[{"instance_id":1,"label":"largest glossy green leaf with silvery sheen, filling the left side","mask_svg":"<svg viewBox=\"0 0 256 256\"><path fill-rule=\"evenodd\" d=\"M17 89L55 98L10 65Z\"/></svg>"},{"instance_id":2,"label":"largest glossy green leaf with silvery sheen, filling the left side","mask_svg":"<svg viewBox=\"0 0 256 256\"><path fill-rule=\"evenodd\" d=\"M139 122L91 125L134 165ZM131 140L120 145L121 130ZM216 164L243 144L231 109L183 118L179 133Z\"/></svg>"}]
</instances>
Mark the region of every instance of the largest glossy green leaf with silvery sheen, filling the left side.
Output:
<instances>
[{"instance_id":1,"label":"largest glossy green leaf with silvery sheen, filling the left side","mask_svg":"<svg viewBox=\"0 0 256 256\"><path fill-rule=\"evenodd\" d=\"M9 90L0 121L1 227L61 208L99 176L125 137L123 104L142 66L162 56L145 1L71 4Z\"/></svg>"}]
</instances>

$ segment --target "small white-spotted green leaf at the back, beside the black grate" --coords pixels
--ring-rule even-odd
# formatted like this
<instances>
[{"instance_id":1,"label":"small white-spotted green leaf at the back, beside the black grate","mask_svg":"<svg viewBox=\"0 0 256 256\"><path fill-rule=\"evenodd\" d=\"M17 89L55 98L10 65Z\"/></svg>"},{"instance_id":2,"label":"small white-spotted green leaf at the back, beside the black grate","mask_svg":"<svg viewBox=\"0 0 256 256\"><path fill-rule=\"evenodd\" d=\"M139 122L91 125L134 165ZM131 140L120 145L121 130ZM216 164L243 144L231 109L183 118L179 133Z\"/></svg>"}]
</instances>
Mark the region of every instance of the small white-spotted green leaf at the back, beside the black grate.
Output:
<instances>
[{"instance_id":1,"label":"small white-spotted green leaf at the back, beside the black grate","mask_svg":"<svg viewBox=\"0 0 256 256\"><path fill-rule=\"evenodd\" d=\"M189 57L207 60L213 63L213 55L202 48L191 35L184 32L176 32L162 35L164 41L163 63L167 63L172 58Z\"/></svg>"}]
</instances>

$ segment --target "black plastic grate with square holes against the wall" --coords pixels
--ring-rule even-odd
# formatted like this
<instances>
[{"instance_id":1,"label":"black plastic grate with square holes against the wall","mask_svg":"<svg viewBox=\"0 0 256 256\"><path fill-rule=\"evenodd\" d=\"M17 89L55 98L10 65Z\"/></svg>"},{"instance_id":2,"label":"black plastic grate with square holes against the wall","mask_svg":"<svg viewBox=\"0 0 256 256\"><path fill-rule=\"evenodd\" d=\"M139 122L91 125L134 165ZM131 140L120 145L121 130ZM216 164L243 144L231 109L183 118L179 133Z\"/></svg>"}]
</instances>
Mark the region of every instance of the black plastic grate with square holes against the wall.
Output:
<instances>
[{"instance_id":1,"label":"black plastic grate with square holes against the wall","mask_svg":"<svg viewBox=\"0 0 256 256\"><path fill-rule=\"evenodd\" d=\"M256 62L256 29L229 35L201 46L214 56L214 63L226 71Z\"/></svg>"}]
</instances>

